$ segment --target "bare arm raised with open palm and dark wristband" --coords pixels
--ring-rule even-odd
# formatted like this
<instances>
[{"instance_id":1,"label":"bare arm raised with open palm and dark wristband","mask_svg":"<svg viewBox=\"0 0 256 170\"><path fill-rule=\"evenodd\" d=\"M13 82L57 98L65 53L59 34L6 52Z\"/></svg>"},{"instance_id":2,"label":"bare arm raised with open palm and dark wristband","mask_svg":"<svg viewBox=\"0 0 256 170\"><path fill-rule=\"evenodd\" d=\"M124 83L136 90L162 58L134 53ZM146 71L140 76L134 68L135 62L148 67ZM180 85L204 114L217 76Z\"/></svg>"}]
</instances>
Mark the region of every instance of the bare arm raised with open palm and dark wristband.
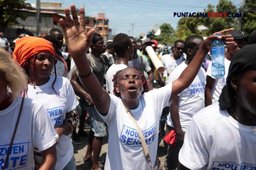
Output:
<instances>
[{"instance_id":1,"label":"bare arm raised with open palm and dark wristband","mask_svg":"<svg viewBox=\"0 0 256 170\"><path fill-rule=\"evenodd\" d=\"M95 29L92 28L89 32L86 32L83 7L80 8L80 24L76 14L76 6L73 4L71 5L71 13L73 20L70 18L68 8L65 8L68 28L64 19L60 19L68 51L76 63L76 68L80 75L79 79L91 95L96 109L105 114L110 106L110 97L108 92L101 87L97 77L93 73L90 74L91 67L86 57L86 52L92 44L92 35Z\"/></svg>"}]
</instances>

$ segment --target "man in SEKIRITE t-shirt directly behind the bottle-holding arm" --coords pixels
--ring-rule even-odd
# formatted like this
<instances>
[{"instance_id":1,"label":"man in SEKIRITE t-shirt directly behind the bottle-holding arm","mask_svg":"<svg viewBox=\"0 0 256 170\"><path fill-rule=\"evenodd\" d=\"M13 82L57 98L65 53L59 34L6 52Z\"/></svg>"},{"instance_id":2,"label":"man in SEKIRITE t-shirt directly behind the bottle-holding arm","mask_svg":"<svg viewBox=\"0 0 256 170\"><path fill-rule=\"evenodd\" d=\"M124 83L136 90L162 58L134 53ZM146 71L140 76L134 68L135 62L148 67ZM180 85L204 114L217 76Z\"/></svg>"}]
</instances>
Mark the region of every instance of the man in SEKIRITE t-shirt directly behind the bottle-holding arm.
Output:
<instances>
[{"instance_id":1,"label":"man in SEKIRITE t-shirt directly behind the bottle-holding arm","mask_svg":"<svg viewBox=\"0 0 256 170\"><path fill-rule=\"evenodd\" d=\"M168 78L168 83L172 83L180 76L196 55L196 52L203 41L204 39L198 35L189 36L185 40L184 49L187 54L187 59L172 71L172 74ZM175 146L168 146L168 155L166 157L166 162L164 163L168 170L176 169L178 167L178 155L183 144L184 134L188 124L190 123L192 116L204 108L205 78L206 73L201 67L191 85L172 100L170 106L171 117L168 117L167 129L169 131L176 131L177 143Z\"/></svg>"}]
</instances>

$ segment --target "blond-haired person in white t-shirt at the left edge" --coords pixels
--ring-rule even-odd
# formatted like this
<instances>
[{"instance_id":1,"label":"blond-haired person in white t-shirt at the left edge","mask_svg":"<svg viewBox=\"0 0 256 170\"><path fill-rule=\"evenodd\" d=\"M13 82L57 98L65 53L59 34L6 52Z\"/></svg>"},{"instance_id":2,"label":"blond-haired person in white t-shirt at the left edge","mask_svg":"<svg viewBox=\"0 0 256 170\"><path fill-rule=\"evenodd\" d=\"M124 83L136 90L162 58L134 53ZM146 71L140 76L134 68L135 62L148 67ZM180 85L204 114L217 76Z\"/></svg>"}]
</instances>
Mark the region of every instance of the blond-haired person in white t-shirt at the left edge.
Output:
<instances>
[{"instance_id":1,"label":"blond-haired person in white t-shirt at the left edge","mask_svg":"<svg viewBox=\"0 0 256 170\"><path fill-rule=\"evenodd\" d=\"M34 169L34 147L43 156L39 169L53 169L56 164L58 135L45 108L35 100L18 96L26 83L20 66L0 49L1 170Z\"/></svg>"}]
</instances>

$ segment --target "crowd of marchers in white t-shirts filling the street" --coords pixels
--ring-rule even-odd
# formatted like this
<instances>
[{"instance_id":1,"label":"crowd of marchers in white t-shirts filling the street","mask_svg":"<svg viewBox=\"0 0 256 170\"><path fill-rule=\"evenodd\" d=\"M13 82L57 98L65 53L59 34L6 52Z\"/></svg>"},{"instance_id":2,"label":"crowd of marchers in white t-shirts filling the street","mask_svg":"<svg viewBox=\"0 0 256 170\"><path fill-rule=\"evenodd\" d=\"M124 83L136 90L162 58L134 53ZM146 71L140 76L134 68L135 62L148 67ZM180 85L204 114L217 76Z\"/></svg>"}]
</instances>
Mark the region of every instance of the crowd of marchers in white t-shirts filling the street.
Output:
<instances>
[{"instance_id":1,"label":"crowd of marchers in white t-shirts filling the street","mask_svg":"<svg viewBox=\"0 0 256 170\"><path fill-rule=\"evenodd\" d=\"M83 160L92 170L103 162L112 170L256 168L256 31L191 35L160 49L156 40L124 33L106 43L85 30L84 8L79 22L74 5L71 11L72 19L68 9L60 19L62 31L20 35L13 50L0 33L1 170L75 170L73 145L81 138L88 138ZM225 42L223 77L212 76L215 39Z\"/></svg>"}]
</instances>

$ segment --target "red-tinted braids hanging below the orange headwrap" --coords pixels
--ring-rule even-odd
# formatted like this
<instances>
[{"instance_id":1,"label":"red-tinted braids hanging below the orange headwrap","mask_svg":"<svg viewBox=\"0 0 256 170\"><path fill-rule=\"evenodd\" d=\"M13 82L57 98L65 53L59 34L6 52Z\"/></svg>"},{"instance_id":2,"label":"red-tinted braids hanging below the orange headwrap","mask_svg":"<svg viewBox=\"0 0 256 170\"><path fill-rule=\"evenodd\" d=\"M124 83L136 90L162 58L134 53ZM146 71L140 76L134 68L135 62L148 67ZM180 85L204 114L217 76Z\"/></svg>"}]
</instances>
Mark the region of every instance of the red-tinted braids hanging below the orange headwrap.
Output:
<instances>
[{"instance_id":1,"label":"red-tinted braids hanging below the orange headwrap","mask_svg":"<svg viewBox=\"0 0 256 170\"><path fill-rule=\"evenodd\" d=\"M32 81L33 81L34 89L36 89L36 87L35 87L35 76L36 76L36 74L35 74L35 67L36 67L36 66L35 66L35 63L36 63L36 55L33 56L33 67L32 67L32 72L33 72ZM28 74L28 60L25 61L25 62L21 65L21 67L22 67L22 69L24 70L25 74L27 74L27 76L29 76L29 74ZM55 94L58 94L58 93L55 91L54 87L53 87L53 85L54 85L54 83L55 83L55 81L56 81L56 79L57 79L55 62L54 62L54 73L55 73L55 78L54 78L54 81L53 81L53 83L52 83L52 89L54 90ZM27 86L28 86L28 83L27 83ZM27 93L28 93L28 88L23 90L23 95L22 95L22 96L25 97ZM28 95L27 95L27 96L28 96Z\"/></svg>"}]
</instances>

